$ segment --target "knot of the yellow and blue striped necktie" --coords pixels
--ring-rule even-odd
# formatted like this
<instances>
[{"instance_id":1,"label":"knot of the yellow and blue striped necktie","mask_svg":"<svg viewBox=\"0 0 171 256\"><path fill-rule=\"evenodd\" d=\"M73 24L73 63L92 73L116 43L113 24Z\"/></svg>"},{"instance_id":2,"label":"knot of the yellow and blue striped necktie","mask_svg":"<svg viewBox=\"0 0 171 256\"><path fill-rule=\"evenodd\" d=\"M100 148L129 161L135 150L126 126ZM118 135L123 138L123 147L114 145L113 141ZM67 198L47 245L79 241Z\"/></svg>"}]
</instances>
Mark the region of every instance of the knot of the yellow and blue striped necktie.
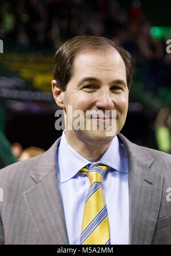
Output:
<instances>
[{"instance_id":1,"label":"knot of the yellow and blue striped necktie","mask_svg":"<svg viewBox=\"0 0 171 256\"><path fill-rule=\"evenodd\" d=\"M86 166L80 170L81 173L86 173L90 184L94 182L102 182L104 173L108 169L107 165L90 165L89 167Z\"/></svg>"}]
</instances>

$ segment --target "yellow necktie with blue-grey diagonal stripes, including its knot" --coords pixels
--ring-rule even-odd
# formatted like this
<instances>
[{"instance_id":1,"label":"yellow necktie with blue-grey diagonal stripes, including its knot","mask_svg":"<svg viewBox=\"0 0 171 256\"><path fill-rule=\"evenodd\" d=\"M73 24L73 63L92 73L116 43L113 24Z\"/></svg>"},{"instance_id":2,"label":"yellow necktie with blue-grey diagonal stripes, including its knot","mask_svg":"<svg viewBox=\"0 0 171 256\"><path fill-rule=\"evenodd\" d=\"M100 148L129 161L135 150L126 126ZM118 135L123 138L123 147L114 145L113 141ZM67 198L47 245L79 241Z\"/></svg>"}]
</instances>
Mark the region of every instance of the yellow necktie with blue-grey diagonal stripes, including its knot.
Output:
<instances>
[{"instance_id":1,"label":"yellow necktie with blue-grey diagonal stripes, including its knot","mask_svg":"<svg viewBox=\"0 0 171 256\"><path fill-rule=\"evenodd\" d=\"M80 245L111 244L107 206L101 188L107 169L106 165L91 164L80 170L81 173L87 174L90 181L84 207Z\"/></svg>"}]
</instances>

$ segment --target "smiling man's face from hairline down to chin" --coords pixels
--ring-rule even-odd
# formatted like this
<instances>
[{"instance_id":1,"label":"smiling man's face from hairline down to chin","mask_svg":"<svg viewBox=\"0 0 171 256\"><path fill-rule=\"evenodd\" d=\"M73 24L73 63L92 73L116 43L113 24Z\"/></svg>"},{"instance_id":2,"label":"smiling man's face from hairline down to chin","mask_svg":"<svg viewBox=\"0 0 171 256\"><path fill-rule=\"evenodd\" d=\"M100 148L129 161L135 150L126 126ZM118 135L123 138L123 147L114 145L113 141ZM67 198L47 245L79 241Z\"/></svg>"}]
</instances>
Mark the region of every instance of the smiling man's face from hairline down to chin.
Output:
<instances>
[{"instance_id":1,"label":"smiling man's face from hairline down to chin","mask_svg":"<svg viewBox=\"0 0 171 256\"><path fill-rule=\"evenodd\" d=\"M68 122L68 105L72 105L72 111L78 109L84 112L86 124L87 110L116 110L116 133L120 132L125 123L128 111L128 87L125 64L120 54L115 49L108 52L86 52L75 57L73 75L67 84L66 91L62 92L63 109L66 112ZM73 117L73 121L78 117ZM91 119L92 122L95 119ZM96 130L85 129L67 131L66 136L76 136L77 139L88 144L107 144L115 135L106 136L106 129L99 129L99 120ZM103 122L103 120L100 120ZM107 120L111 121L111 120ZM105 125L104 125L105 126Z\"/></svg>"}]
</instances>

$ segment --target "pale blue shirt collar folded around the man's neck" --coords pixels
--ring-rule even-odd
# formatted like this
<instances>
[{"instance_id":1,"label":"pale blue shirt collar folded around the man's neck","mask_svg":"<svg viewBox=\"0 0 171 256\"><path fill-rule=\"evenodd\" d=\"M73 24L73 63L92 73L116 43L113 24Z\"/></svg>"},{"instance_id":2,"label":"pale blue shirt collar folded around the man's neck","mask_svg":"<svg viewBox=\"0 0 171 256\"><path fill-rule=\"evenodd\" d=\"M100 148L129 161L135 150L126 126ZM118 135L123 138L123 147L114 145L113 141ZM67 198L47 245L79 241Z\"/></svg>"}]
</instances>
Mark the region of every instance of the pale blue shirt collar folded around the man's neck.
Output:
<instances>
[{"instance_id":1,"label":"pale blue shirt collar folded around the man's neck","mask_svg":"<svg viewBox=\"0 0 171 256\"><path fill-rule=\"evenodd\" d=\"M61 183L70 180L84 166L92 162L80 156L66 141L66 130L63 131L57 154L57 165L59 166L59 181ZM66 161L67 159L67 161ZM123 161L124 160L124 161ZM112 140L107 151L100 157L101 164L111 166L119 172L128 173L127 156L124 145L119 143L117 136Z\"/></svg>"}]
</instances>

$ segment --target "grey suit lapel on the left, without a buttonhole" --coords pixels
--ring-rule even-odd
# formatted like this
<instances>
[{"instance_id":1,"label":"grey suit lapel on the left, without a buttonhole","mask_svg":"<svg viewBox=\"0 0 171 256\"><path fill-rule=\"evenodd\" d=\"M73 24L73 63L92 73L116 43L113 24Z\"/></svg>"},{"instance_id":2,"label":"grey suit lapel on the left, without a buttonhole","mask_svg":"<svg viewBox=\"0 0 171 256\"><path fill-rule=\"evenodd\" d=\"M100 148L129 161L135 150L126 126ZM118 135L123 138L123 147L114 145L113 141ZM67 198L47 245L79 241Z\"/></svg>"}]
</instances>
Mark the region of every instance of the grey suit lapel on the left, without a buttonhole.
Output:
<instances>
[{"instance_id":1,"label":"grey suit lapel on the left, without a buttonhole","mask_svg":"<svg viewBox=\"0 0 171 256\"><path fill-rule=\"evenodd\" d=\"M30 172L36 185L23 193L43 244L68 244L63 206L56 173L56 147L60 138L41 155Z\"/></svg>"}]
</instances>

